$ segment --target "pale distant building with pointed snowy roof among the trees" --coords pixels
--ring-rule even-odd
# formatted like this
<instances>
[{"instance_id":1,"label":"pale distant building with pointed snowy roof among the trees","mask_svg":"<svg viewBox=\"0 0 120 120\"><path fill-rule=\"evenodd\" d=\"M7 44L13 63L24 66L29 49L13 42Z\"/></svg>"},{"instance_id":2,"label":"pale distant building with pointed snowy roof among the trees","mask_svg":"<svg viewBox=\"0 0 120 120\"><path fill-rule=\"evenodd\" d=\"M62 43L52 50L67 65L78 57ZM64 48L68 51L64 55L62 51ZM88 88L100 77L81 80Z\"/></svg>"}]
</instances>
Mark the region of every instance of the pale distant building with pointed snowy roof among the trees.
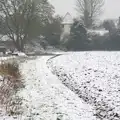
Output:
<instances>
[{"instance_id":1,"label":"pale distant building with pointed snowy roof among the trees","mask_svg":"<svg viewBox=\"0 0 120 120\"><path fill-rule=\"evenodd\" d=\"M70 15L70 13L67 12L61 23L62 25L61 40L65 40L65 37L70 35L70 29L72 24L73 24L73 18Z\"/></svg>"}]
</instances>

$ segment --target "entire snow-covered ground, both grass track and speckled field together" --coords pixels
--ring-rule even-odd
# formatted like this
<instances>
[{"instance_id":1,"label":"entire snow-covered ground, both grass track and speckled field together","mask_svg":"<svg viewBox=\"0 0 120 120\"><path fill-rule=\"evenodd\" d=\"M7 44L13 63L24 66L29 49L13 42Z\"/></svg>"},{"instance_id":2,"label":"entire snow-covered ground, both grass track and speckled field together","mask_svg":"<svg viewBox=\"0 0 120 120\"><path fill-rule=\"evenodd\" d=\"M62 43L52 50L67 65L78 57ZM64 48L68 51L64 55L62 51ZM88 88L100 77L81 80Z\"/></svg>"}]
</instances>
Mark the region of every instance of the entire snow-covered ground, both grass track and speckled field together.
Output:
<instances>
[{"instance_id":1,"label":"entire snow-covered ground, both grass track and speckled field together","mask_svg":"<svg viewBox=\"0 0 120 120\"><path fill-rule=\"evenodd\" d=\"M1 120L120 120L119 52L23 59L23 113L10 117L1 109Z\"/></svg>"}]
</instances>

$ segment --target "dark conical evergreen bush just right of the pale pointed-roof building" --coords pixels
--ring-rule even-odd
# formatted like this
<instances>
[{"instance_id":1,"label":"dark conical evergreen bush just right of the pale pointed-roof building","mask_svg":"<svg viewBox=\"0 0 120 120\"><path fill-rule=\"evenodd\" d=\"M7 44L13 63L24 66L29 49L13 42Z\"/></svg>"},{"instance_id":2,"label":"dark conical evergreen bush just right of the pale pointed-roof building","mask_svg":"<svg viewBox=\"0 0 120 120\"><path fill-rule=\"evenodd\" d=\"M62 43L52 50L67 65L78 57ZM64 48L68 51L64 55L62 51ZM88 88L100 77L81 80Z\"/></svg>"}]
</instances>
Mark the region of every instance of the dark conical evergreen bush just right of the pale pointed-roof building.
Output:
<instances>
[{"instance_id":1,"label":"dark conical evergreen bush just right of the pale pointed-roof building","mask_svg":"<svg viewBox=\"0 0 120 120\"><path fill-rule=\"evenodd\" d=\"M75 20L70 33L70 39L66 42L68 50L86 50L88 44L87 30L79 21Z\"/></svg>"}]
</instances>

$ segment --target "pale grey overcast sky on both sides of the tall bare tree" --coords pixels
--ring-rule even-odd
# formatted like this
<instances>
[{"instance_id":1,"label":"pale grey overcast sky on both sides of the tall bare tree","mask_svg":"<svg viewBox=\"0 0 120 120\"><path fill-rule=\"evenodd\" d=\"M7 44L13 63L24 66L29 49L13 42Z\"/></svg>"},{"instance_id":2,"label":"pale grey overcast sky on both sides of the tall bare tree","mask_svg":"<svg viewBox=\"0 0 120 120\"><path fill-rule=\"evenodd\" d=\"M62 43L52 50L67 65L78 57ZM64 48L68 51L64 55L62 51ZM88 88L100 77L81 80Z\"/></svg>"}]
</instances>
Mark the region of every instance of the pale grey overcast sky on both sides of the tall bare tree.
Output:
<instances>
[{"instance_id":1,"label":"pale grey overcast sky on both sides of the tall bare tree","mask_svg":"<svg viewBox=\"0 0 120 120\"><path fill-rule=\"evenodd\" d=\"M76 0L49 0L55 7L56 13L64 16L69 12L73 17L77 16L75 11ZM120 0L105 0L104 12L100 19L118 18L120 16Z\"/></svg>"}]
</instances>

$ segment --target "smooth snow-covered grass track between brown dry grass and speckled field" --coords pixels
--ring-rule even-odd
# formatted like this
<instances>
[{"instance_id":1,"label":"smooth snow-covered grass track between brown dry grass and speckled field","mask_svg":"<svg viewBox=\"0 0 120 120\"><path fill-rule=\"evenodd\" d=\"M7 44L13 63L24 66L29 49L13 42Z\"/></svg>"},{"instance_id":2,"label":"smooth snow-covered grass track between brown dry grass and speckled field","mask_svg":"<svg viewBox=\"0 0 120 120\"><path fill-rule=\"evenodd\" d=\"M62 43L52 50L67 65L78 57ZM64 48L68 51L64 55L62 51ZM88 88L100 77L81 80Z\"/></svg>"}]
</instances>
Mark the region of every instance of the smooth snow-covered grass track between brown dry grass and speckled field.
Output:
<instances>
[{"instance_id":1,"label":"smooth snow-covered grass track between brown dry grass and speckled field","mask_svg":"<svg viewBox=\"0 0 120 120\"><path fill-rule=\"evenodd\" d=\"M21 66L26 88L22 120L97 120L94 108L65 87L46 65L50 56L26 61Z\"/></svg>"}]
</instances>

